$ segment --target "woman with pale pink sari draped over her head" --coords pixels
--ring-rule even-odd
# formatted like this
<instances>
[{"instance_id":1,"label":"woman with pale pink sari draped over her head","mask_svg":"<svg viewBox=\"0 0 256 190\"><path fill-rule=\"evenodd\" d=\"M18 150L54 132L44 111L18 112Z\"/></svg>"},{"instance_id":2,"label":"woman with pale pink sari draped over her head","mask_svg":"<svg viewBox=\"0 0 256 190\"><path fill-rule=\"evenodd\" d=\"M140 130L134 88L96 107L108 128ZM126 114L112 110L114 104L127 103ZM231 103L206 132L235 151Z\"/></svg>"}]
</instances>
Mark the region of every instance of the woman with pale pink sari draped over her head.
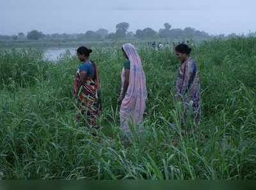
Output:
<instances>
[{"instance_id":1,"label":"woman with pale pink sari draped over her head","mask_svg":"<svg viewBox=\"0 0 256 190\"><path fill-rule=\"evenodd\" d=\"M122 89L118 98L121 103L120 123L126 135L131 135L129 125L138 126L143 123L147 87L141 59L134 46L126 43L122 50L127 62L122 71Z\"/></svg>"}]
</instances>

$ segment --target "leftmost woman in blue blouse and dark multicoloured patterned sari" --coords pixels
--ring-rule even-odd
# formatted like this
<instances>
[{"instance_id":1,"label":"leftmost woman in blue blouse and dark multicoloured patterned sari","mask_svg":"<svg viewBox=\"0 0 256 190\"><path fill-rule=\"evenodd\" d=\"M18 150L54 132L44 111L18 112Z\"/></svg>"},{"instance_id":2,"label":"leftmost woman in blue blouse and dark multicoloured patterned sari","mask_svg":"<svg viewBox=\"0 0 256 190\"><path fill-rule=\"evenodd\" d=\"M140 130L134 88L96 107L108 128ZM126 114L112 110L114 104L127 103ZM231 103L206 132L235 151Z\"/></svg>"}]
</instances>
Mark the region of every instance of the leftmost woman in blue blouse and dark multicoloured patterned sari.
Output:
<instances>
[{"instance_id":1,"label":"leftmost woman in blue blouse and dark multicoloured patterned sari","mask_svg":"<svg viewBox=\"0 0 256 190\"><path fill-rule=\"evenodd\" d=\"M88 124L93 128L98 128L97 117L101 111L100 82L97 64L89 59L91 53L92 50L86 47L77 49L77 57L83 64L77 70L73 94L77 99L79 108L76 120L78 121L82 114L87 118Z\"/></svg>"}]
</instances>

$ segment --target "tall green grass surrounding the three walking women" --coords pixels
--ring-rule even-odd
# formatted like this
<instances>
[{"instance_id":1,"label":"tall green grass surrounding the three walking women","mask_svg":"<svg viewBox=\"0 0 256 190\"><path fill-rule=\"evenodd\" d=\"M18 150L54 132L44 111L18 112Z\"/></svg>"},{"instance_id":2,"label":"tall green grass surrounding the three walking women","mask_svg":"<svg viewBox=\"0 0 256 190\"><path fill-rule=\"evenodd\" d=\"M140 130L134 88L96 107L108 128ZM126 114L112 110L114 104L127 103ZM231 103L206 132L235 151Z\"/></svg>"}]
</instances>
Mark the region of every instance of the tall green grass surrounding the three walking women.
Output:
<instances>
[{"instance_id":1,"label":"tall green grass surrounding the three walking women","mask_svg":"<svg viewBox=\"0 0 256 190\"><path fill-rule=\"evenodd\" d=\"M92 47L93 48L93 47ZM102 82L102 133L76 127L76 57L59 64L34 50L0 50L0 172L4 179L255 179L256 38L205 41L200 68L203 118L179 126L173 101L179 62L171 50L140 48L147 76L145 130L120 141L120 50L93 48ZM186 129L194 128L192 122ZM175 138L180 139L173 147Z\"/></svg>"}]
</instances>

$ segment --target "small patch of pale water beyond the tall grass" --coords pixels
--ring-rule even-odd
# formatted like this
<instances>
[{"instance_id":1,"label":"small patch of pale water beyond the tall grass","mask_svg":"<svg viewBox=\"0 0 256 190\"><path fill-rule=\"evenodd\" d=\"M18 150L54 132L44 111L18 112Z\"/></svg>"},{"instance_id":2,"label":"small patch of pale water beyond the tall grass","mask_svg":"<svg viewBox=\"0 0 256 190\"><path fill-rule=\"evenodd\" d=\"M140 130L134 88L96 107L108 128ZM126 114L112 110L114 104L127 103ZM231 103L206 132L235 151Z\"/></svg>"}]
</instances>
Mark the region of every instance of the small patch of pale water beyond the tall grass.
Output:
<instances>
[{"instance_id":1,"label":"small patch of pale water beyond the tall grass","mask_svg":"<svg viewBox=\"0 0 256 190\"><path fill-rule=\"evenodd\" d=\"M67 51L71 55L76 55L76 48L47 48L44 52L44 57L47 61L58 61Z\"/></svg>"}]
</instances>

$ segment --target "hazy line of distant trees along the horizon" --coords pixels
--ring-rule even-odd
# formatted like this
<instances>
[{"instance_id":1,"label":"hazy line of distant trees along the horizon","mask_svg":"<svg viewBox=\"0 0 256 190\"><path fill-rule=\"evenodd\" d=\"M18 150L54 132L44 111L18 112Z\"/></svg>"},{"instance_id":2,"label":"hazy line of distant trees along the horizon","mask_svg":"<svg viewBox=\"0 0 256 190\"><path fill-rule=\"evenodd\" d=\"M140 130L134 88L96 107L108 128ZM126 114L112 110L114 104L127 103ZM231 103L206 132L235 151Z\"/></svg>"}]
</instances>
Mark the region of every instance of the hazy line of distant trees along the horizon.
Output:
<instances>
[{"instance_id":1,"label":"hazy line of distant trees along the horizon","mask_svg":"<svg viewBox=\"0 0 256 190\"><path fill-rule=\"evenodd\" d=\"M81 40L91 40L91 41L103 41L103 40L122 40L122 39L134 39L134 40L152 40L157 38L169 38L172 40L179 38L186 39L207 39L212 36L204 31L198 31L192 27L186 27L185 29L175 29L169 23L165 23L162 29L159 31L154 31L150 27L145 29L137 29L135 33L128 31L129 23L121 22L116 25L115 33L109 33L107 29L99 29L97 31L86 31L82 34L44 34L40 31L33 30L27 35L24 33L19 33L13 36L0 35L0 41L17 41L17 40L58 40L58 41L81 41ZM229 36L236 36L236 34L230 34ZM225 37L221 34L217 37Z\"/></svg>"}]
</instances>

